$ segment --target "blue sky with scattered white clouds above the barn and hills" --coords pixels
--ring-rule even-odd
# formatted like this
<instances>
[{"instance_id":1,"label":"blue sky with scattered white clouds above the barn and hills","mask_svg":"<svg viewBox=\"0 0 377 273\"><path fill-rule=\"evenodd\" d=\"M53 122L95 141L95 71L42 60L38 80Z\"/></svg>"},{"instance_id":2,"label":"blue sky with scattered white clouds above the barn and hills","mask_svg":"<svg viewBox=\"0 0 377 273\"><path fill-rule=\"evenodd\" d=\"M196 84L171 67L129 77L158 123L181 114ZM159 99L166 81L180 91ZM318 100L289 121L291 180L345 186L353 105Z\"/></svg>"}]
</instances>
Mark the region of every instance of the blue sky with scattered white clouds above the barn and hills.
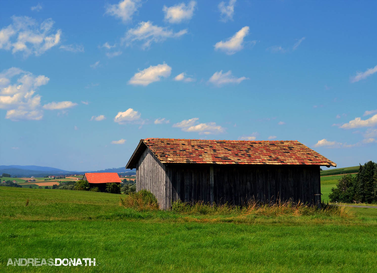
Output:
<instances>
[{"instance_id":1,"label":"blue sky with scattered white clouds above the barn and hills","mask_svg":"<svg viewBox=\"0 0 377 273\"><path fill-rule=\"evenodd\" d=\"M3 1L0 164L125 166L141 138L377 161L377 2Z\"/></svg>"}]
</instances>

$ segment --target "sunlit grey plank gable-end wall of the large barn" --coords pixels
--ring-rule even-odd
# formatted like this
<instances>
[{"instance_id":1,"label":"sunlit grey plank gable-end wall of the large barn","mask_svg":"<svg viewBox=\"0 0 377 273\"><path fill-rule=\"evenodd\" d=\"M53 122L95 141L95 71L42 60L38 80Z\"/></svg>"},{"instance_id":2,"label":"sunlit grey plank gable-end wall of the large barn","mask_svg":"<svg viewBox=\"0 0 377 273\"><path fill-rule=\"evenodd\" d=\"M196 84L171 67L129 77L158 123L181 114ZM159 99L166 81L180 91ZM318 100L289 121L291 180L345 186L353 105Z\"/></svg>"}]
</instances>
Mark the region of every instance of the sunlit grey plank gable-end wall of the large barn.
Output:
<instances>
[{"instance_id":1,"label":"sunlit grey plank gable-end wall of the large barn","mask_svg":"<svg viewBox=\"0 0 377 273\"><path fill-rule=\"evenodd\" d=\"M160 209L169 209L171 202L167 197L165 165L162 164L149 148L140 156L136 166L136 191L146 189L152 192Z\"/></svg>"}]
</instances>

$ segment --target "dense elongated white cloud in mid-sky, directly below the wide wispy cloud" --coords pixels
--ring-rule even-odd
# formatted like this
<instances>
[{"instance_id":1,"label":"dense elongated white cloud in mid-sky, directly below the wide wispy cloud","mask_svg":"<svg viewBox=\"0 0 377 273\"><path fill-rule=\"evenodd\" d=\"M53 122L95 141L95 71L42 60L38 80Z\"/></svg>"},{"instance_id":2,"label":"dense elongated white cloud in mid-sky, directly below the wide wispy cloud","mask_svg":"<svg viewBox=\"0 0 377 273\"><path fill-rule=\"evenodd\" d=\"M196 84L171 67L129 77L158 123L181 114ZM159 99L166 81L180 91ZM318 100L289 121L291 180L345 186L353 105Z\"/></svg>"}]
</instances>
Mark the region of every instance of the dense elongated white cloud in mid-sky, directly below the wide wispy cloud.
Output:
<instances>
[{"instance_id":1,"label":"dense elongated white cloud in mid-sky, directly below the wide wispy cloud","mask_svg":"<svg viewBox=\"0 0 377 273\"><path fill-rule=\"evenodd\" d=\"M128 81L128 84L147 86L155 81L160 81L161 77L167 78L172 73L172 67L166 63L158 64L156 66L149 66L148 68L135 73Z\"/></svg>"}]
</instances>

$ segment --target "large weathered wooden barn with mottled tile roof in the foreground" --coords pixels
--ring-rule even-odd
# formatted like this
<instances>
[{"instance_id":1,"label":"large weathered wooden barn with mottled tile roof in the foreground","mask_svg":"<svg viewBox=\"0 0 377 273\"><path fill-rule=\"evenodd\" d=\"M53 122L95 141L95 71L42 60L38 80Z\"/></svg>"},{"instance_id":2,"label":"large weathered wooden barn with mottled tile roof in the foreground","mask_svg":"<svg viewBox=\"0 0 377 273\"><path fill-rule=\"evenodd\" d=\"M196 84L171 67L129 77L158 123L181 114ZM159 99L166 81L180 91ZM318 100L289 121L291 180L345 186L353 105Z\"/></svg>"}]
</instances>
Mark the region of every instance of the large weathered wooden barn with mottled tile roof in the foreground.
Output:
<instances>
[{"instance_id":1,"label":"large weathered wooden barn with mottled tile roof in the foreground","mask_svg":"<svg viewBox=\"0 0 377 273\"><path fill-rule=\"evenodd\" d=\"M126 168L136 168L136 191L150 190L160 209L170 209L177 200L316 204L320 166L336 164L298 141L147 138Z\"/></svg>"}]
</instances>

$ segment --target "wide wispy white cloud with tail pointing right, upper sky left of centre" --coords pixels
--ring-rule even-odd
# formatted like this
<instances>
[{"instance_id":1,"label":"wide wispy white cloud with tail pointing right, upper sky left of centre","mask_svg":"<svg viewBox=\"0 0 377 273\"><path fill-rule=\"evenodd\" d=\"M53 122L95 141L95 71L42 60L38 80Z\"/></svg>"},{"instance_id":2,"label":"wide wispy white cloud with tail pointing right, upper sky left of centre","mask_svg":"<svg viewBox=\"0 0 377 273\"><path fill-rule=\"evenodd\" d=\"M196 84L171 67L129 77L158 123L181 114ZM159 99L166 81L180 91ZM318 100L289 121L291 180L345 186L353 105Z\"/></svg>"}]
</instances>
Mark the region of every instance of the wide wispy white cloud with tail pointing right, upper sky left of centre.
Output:
<instances>
[{"instance_id":1,"label":"wide wispy white cloud with tail pointing right, upper sky left of centre","mask_svg":"<svg viewBox=\"0 0 377 273\"><path fill-rule=\"evenodd\" d=\"M182 29L178 32L173 32L172 30L161 27L154 26L151 21L141 22L135 28L129 29L126 32L125 37L122 39L123 43L129 46L135 41L142 41L142 48L149 48L152 42L161 43L167 38L178 38L187 33L187 29Z\"/></svg>"}]
</instances>

